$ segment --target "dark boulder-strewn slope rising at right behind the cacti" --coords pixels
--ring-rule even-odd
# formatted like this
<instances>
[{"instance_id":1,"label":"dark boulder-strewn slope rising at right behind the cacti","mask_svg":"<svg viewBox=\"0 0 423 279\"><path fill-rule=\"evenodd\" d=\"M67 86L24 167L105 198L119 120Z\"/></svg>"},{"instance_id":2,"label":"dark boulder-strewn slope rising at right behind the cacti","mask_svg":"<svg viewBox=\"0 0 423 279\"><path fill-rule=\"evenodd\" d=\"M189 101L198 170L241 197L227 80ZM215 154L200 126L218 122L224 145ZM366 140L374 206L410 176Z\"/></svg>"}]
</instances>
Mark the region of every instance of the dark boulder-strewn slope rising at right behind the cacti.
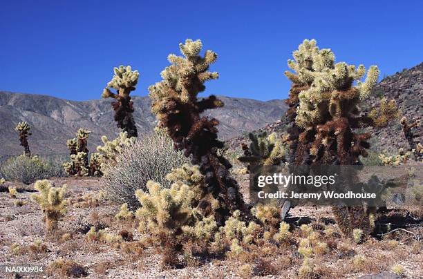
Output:
<instances>
[{"instance_id":1,"label":"dark boulder-strewn slope rising at right behind the cacti","mask_svg":"<svg viewBox=\"0 0 423 279\"><path fill-rule=\"evenodd\" d=\"M379 99L386 97L387 99L395 99L398 107L408 119L421 119L423 121L423 63L409 69L404 69L400 73L395 73L389 77L385 77L375 87L373 96L364 104L363 110L368 110L371 106L377 106ZM282 121L276 121L267 124L258 131L267 131L267 133L285 130L285 124ZM370 140L371 148L376 152L384 152L395 154L399 148L408 148L408 143L404 138L400 121L396 121L390 126L373 130L369 129L373 138ZM417 135L416 140L423 142L423 127L420 125L414 128L413 132ZM249 142L248 137L239 135L228 141L229 146L236 148L241 142Z\"/></svg>"}]
</instances>

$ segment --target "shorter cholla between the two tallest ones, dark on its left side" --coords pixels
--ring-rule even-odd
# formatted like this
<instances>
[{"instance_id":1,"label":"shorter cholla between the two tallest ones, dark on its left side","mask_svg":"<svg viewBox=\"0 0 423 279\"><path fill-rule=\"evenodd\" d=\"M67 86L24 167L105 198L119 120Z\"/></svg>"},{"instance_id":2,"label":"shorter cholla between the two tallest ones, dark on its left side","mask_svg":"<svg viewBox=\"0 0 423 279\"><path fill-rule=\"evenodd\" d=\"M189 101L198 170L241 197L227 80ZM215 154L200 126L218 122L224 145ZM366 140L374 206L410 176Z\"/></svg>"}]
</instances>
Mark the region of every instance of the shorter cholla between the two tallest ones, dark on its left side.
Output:
<instances>
[{"instance_id":1,"label":"shorter cholla between the two tallest ones, dark on its left side","mask_svg":"<svg viewBox=\"0 0 423 279\"><path fill-rule=\"evenodd\" d=\"M249 169L251 166L279 165L285 160L288 151L276 133L269 136L265 132L258 135L250 133L248 136L251 140L250 148L244 146L244 156L238 157L238 160L248 163Z\"/></svg>"}]
</instances>

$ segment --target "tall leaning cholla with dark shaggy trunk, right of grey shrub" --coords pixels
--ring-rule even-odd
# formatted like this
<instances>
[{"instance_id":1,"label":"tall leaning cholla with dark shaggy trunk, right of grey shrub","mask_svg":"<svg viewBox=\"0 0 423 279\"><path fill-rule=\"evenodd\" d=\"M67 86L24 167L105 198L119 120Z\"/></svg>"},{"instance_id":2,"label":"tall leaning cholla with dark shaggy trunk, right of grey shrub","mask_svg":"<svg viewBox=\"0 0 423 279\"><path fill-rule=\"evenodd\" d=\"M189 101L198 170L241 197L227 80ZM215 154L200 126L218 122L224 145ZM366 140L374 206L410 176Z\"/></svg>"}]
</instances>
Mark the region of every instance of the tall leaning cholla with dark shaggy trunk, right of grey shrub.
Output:
<instances>
[{"instance_id":1,"label":"tall leaning cholla with dark shaggy trunk, right of grey shrub","mask_svg":"<svg viewBox=\"0 0 423 279\"><path fill-rule=\"evenodd\" d=\"M223 106L214 95L197 98L198 93L205 90L205 81L218 78L218 73L208 71L217 55L207 50L201 57L200 40L187 39L179 48L183 57L169 55L171 66L162 71L163 80L149 87L151 111L167 128L176 148L185 150L192 163L200 165L207 189L225 205L220 207L220 217L217 217L218 222L223 222L230 211L244 204L238 184L229 176L231 164L217 154L218 148L223 148L223 142L217 140L218 120L200 116L207 109Z\"/></svg>"}]
</instances>

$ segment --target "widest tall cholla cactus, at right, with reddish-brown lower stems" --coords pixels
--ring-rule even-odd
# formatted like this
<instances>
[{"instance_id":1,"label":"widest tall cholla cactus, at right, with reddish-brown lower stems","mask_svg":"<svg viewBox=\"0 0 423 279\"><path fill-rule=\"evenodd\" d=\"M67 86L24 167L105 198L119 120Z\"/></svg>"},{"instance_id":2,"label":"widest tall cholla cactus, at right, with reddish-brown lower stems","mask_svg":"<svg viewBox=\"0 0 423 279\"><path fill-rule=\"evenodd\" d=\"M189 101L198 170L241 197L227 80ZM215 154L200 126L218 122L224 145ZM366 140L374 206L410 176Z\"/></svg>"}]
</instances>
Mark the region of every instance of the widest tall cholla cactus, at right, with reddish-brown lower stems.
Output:
<instances>
[{"instance_id":1,"label":"widest tall cholla cactus, at right, with reddish-brown lower stems","mask_svg":"<svg viewBox=\"0 0 423 279\"><path fill-rule=\"evenodd\" d=\"M359 156L367 156L369 133L359 134L357 128L384 127L398 115L395 101L382 99L380 108L361 114L359 104L370 95L377 83L379 70L371 66L366 74L364 66L357 68L344 62L335 64L330 49L319 49L316 41L305 40L293 53L288 66L295 73L286 72L292 81L288 117L294 126L288 131L293 162L297 164L360 164ZM357 81L357 86L353 82ZM351 177L354 177L352 174ZM368 232L368 215L361 206L333 209L344 233L353 229Z\"/></svg>"}]
</instances>

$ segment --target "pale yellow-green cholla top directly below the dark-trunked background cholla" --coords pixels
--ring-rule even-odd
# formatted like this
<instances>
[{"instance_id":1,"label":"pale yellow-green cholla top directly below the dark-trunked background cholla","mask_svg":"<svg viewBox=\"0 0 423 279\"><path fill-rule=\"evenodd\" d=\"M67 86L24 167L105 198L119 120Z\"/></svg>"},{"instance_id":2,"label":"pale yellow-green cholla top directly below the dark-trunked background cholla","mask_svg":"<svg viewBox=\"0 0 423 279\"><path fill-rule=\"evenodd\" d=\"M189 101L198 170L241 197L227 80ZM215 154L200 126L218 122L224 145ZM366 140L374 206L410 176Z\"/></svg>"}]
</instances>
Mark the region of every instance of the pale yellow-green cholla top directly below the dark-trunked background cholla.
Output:
<instances>
[{"instance_id":1,"label":"pale yellow-green cholla top directly below the dark-trunked background cholla","mask_svg":"<svg viewBox=\"0 0 423 279\"><path fill-rule=\"evenodd\" d=\"M97 151L100 152L100 161L102 164L115 164L116 156L128 146L131 146L136 140L136 137L128 137L127 132L122 132L115 140L109 141L107 137L102 136L103 146L97 146Z\"/></svg>"}]
</instances>

